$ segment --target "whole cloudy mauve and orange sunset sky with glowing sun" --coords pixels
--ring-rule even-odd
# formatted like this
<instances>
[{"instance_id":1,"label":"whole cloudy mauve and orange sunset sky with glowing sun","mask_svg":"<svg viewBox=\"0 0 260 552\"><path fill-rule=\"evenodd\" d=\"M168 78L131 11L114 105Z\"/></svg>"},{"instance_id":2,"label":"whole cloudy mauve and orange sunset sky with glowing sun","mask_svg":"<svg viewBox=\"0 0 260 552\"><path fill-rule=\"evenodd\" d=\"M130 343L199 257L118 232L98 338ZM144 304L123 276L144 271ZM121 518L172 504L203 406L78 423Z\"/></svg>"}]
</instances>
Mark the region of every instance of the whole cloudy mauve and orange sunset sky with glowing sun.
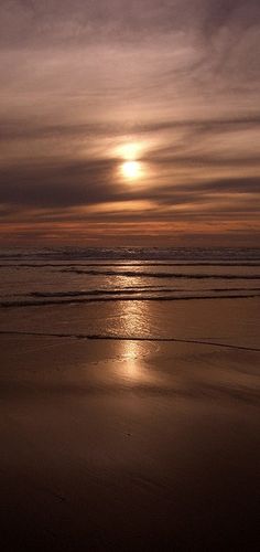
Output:
<instances>
[{"instance_id":1,"label":"whole cloudy mauve and orange sunset sky with glowing sun","mask_svg":"<svg viewBox=\"0 0 260 552\"><path fill-rule=\"evenodd\" d=\"M259 0L1 0L0 245L259 245Z\"/></svg>"}]
</instances>

